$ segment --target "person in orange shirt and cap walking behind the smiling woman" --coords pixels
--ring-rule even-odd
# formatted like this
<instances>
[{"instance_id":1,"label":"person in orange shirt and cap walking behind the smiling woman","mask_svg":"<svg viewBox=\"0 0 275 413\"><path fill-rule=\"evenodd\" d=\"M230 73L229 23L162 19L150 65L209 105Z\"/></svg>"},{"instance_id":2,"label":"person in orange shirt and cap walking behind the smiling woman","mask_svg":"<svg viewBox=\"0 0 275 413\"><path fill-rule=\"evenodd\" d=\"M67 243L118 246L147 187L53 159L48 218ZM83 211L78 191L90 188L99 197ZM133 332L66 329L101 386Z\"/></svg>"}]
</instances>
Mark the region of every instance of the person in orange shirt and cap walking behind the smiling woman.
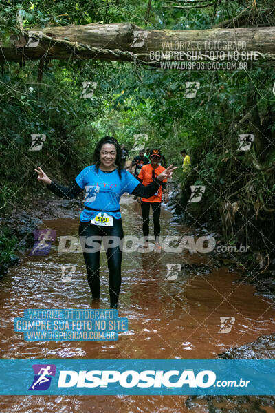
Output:
<instances>
[{"instance_id":1,"label":"person in orange shirt and cap walking behind the smiling woman","mask_svg":"<svg viewBox=\"0 0 275 413\"><path fill-rule=\"evenodd\" d=\"M159 162L162 158L162 154L159 149L151 149L150 151L150 160L151 163L144 165L138 175L138 180L146 187L153 181L153 178L156 178L159 173L165 170L164 167L159 165ZM151 196L151 198L138 198L137 201L140 202L142 206L142 218L143 225L142 231L144 235L144 248L148 247L148 235L149 235L149 216L150 216L150 205L152 205L153 210L153 223L154 223L154 235L155 235L155 247L157 250L161 250L159 244L159 233L160 233L160 205L162 203L162 192L164 193L164 202L168 202L168 191L166 189L167 180L164 179L162 186L159 187L158 191Z\"/></svg>"}]
</instances>

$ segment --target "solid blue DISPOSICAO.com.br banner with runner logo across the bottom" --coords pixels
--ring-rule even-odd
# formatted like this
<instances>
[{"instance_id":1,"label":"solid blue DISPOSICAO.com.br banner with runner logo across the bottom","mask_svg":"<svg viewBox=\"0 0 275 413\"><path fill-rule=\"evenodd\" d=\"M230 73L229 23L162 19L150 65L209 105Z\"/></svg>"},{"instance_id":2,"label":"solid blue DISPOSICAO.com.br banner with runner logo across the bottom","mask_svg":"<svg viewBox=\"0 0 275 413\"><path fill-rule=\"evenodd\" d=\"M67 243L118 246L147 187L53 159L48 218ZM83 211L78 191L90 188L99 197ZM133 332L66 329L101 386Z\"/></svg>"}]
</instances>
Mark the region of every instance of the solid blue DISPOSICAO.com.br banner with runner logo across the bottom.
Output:
<instances>
[{"instance_id":1,"label":"solid blue DISPOSICAO.com.br banner with runner logo across the bottom","mask_svg":"<svg viewBox=\"0 0 275 413\"><path fill-rule=\"evenodd\" d=\"M275 360L0 360L1 395L274 395Z\"/></svg>"}]
</instances>

